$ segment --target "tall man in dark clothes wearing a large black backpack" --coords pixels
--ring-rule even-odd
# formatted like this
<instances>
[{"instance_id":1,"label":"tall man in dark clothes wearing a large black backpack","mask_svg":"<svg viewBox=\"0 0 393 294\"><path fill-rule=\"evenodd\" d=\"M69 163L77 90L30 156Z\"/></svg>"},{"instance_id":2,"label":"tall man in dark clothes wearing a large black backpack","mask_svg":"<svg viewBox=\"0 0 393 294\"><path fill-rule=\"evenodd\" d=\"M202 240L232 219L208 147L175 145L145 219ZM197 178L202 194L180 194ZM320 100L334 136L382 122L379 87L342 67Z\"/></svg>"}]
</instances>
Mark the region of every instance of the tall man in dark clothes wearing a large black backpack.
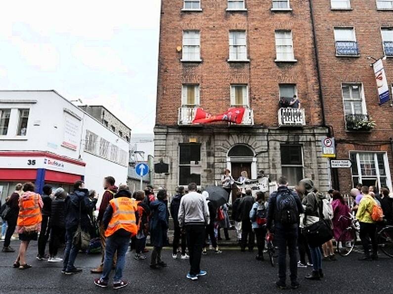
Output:
<instances>
[{"instance_id":1,"label":"tall man in dark clothes wearing a large black backpack","mask_svg":"<svg viewBox=\"0 0 393 294\"><path fill-rule=\"evenodd\" d=\"M267 210L266 228L273 232L278 246L278 277L276 286L286 289L286 255L289 251L289 268L291 271L291 288L299 288L298 282L298 226L299 215L303 213L303 206L298 194L288 188L285 177L278 180L278 189L271 193Z\"/></svg>"}]
</instances>

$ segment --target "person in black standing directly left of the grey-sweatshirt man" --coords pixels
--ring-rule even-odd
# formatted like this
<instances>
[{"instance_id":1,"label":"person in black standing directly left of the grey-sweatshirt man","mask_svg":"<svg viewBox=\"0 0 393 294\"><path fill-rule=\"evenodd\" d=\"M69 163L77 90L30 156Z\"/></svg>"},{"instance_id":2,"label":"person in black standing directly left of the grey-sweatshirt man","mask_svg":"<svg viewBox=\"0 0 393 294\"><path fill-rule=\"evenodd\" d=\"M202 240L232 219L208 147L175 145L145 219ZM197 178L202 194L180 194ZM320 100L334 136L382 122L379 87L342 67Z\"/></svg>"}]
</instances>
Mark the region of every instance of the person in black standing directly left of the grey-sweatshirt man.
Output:
<instances>
[{"instance_id":1,"label":"person in black standing directly left of the grey-sweatshirt man","mask_svg":"<svg viewBox=\"0 0 393 294\"><path fill-rule=\"evenodd\" d=\"M171 201L171 216L172 219L174 220L174 242L173 242L173 252L172 252L172 257L174 259L177 258L177 249L179 247L179 241L181 239L181 259L188 259L189 256L186 254L185 249L186 249L186 239L185 239L185 233L181 231L180 225L179 225L179 220L178 220L178 214L179 214L179 208L180 208L180 201L181 197L184 196L184 187L179 186L176 188L176 195Z\"/></svg>"}]
</instances>

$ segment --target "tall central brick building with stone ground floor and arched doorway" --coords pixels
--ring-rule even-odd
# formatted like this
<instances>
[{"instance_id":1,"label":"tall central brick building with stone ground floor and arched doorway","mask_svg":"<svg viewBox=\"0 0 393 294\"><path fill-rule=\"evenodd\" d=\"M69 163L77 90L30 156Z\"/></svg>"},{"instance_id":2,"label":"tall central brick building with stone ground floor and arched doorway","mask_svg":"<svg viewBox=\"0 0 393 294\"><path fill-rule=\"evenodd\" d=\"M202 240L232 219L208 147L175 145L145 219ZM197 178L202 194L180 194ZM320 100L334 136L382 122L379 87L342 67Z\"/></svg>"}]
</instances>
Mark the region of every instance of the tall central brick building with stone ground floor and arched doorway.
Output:
<instances>
[{"instance_id":1,"label":"tall central brick building with stone ground floor and arched doorway","mask_svg":"<svg viewBox=\"0 0 393 294\"><path fill-rule=\"evenodd\" d=\"M326 191L320 98L308 1L162 0L155 162L169 169L154 184L219 184L229 168ZM192 124L197 108L230 107L240 124Z\"/></svg>"}]
</instances>

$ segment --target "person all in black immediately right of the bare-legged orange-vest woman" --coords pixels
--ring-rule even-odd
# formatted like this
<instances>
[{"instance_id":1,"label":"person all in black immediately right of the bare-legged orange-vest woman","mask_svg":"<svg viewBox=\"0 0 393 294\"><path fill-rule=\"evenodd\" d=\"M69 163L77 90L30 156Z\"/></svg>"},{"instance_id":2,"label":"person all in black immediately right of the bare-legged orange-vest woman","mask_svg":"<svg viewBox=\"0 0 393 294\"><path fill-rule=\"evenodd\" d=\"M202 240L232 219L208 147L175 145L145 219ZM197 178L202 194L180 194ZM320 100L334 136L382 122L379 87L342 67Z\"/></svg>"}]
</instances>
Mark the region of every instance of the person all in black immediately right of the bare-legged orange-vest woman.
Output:
<instances>
[{"instance_id":1,"label":"person all in black immediately right of the bare-legged orange-vest woman","mask_svg":"<svg viewBox=\"0 0 393 294\"><path fill-rule=\"evenodd\" d=\"M44 207L41 211L43 215L43 221L41 223L41 232L38 237L38 260L47 260L49 256L45 254L46 243L49 239L50 233L50 210L52 206L52 187L50 185L44 185L43 187L43 195L41 196L44 202Z\"/></svg>"}]
</instances>

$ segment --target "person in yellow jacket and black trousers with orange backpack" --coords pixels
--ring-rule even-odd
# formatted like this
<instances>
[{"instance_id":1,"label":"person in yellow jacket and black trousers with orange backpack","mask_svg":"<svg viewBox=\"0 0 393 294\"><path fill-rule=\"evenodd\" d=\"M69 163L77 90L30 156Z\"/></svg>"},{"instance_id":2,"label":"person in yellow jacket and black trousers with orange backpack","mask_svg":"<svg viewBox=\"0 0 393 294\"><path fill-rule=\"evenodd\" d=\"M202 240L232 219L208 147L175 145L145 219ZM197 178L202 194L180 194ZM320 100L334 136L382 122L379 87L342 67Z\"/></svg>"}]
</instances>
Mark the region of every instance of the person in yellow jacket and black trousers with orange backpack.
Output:
<instances>
[{"instance_id":1,"label":"person in yellow jacket and black trousers with orange backpack","mask_svg":"<svg viewBox=\"0 0 393 294\"><path fill-rule=\"evenodd\" d=\"M359 203L359 208L357 209L356 219L360 224L359 237L362 242L364 257L359 260L376 260L378 259L378 243L376 238L377 224L373 220L373 210L374 206L377 205L375 199L369 194L369 189L367 186L363 186L361 189L363 198ZM373 253L370 256L369 240L371 240L371 246Z\"/></svg>"}]
</instances>

